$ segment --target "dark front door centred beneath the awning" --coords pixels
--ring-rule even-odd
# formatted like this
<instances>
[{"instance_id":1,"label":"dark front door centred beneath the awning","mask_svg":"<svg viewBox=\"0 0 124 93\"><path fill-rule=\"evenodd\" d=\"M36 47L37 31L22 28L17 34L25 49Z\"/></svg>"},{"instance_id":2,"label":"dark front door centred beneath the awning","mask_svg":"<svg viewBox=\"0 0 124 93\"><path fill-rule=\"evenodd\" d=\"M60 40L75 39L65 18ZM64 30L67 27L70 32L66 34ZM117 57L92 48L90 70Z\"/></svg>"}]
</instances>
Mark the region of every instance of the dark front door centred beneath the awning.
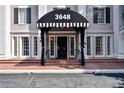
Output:
<instances>
[{"instance_id":1,"label":"dark front door centred beneath the awning","mask_svg":"<svg viewBox=\"0 0 124 93\"><path fill-rule=\"evenodd\" d=\"M57 37L58 58L67 58L67 37Z\"/></svg>"}]
</instances>

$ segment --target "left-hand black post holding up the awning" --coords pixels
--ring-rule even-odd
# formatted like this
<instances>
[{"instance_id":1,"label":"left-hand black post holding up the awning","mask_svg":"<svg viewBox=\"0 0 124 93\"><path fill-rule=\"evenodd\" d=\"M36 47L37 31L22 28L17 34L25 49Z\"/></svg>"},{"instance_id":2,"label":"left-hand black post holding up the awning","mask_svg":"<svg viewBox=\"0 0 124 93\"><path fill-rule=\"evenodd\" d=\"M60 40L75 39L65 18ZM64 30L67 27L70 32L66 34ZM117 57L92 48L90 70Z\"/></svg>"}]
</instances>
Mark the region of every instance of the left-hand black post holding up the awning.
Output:
<instances>
[{"instance_id":1,"label":"left-hand black post holding up the awning","mask_svg":"<svg viewBox=\"0 0 124 93\"><path fill-rule=\"evenodd\" d=\"M42 44L42 49L41 49L41 65L45 65L44 62L44 30L41 29L41 44Z\"/></svg>"}]
</instances>

